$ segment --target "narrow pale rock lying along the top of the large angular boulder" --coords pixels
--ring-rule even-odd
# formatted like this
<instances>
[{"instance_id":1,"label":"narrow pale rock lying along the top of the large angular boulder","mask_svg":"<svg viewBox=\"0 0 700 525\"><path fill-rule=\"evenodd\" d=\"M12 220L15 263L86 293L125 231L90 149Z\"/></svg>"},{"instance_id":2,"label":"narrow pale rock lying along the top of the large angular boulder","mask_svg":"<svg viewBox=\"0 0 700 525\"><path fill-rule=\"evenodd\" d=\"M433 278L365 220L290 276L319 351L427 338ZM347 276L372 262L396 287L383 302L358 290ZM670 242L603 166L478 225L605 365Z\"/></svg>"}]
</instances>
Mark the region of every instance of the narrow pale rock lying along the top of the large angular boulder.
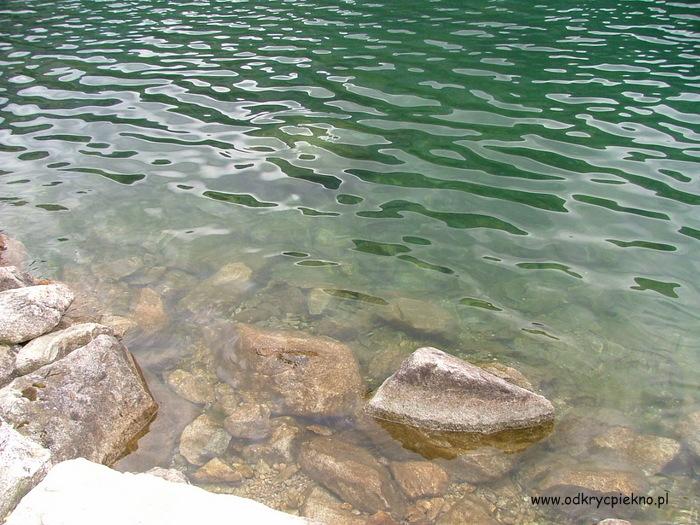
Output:
<instances>
[{"instance_id":1,"label":"narrow pale rock lying along the top of the large angular boulder","mask_svg":"<svg viewBox=\"0 0 700 525\"><path fill-rule=\"evenodd\" d=\"M29 374L65 357L76 348L85 346L95 337L103 334L111 335L112 332L106 326L82 323L37 337L20 348L17 353L17 372L19 375Z\"/></svg>"}]
</instances>

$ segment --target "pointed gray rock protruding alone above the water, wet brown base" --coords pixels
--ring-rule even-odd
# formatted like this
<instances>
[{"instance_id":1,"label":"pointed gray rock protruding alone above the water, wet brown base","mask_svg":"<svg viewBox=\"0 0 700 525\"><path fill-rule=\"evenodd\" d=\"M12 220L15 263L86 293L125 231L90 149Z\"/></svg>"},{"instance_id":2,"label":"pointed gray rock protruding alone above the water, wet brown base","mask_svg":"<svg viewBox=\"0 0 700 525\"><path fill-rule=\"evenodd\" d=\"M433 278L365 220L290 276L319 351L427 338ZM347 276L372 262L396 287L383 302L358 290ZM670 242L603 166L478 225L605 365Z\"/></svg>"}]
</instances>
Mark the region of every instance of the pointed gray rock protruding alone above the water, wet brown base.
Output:
<instances>
[{"instance_id":1,"label":"pointed gray rock protruding alone above the water, wet brown base","mask_svg":"<svg viewBox=\"0 0 700 525\"><path fill-rule=\"evenodd\" d=\"M495 434L549 424L544 397L436 348L419 348L367 405L377 419L437 432Z\"/></svg>"}]
</instances>

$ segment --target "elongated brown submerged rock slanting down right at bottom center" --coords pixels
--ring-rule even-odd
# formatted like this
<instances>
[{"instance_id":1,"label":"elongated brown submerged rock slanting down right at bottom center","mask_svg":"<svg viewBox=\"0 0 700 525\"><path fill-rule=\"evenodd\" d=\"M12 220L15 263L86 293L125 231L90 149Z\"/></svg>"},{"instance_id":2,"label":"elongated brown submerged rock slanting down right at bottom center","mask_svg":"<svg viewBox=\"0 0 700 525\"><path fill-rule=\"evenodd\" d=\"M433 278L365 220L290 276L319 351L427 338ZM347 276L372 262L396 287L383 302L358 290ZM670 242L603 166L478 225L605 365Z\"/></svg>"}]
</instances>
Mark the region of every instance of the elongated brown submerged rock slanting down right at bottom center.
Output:
<instances>
[{"instance_id":1,"label":"elongated brown submerged rock slanting down right at bottom center","mask_svg":"<svg viewBox=\"0 0 700 525\"><path fill-rule=\"evenodd\" d=\"M367 512L403 514L405 502L387 469L366 450L335 438L302 444L299 464L312 479Z\"/></svg>"}]
</instances>

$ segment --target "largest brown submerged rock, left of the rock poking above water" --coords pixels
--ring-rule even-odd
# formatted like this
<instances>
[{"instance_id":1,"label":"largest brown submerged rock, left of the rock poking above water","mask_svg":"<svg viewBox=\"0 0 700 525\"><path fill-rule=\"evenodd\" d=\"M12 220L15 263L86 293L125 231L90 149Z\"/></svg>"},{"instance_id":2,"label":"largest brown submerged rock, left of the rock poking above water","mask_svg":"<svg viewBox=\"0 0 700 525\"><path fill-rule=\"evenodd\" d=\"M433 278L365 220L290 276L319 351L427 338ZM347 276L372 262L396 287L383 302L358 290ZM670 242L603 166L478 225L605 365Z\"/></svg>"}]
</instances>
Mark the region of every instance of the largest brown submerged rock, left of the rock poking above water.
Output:
<instances>
[{"instance_id":1,"label":"largest brown submerged rock, left of the rock poking above water","mask_svg":"<svg viewBox=\"0 0 700 525\"><path fill-rule=\"evenodd\" d=\"M302 332L237 328L238 340L224 354L224 366L274 413L334 416L358 405L362 379L344 344Z\"/></svg>"}]
</instances>

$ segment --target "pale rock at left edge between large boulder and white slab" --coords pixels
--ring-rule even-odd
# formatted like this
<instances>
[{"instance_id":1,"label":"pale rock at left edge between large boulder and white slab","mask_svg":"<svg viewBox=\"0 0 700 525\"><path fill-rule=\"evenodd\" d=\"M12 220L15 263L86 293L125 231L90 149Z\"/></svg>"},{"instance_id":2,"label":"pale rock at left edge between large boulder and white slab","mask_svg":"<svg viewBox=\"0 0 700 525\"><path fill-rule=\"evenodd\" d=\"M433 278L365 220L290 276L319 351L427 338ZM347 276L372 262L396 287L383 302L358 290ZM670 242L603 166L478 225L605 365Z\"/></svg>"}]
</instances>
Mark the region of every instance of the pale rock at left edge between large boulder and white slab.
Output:
<instances>
[{"instance_id":1,"label":"pale rock at left edge between large boulder and white slab","mask_svg":"<svg viewBox=\"0 0 700 525\"><path fill-rule=\"evenodd\" d=\"M51 453L0 418L0 521L44 477Z\"/></svg>"}]
</instances>

